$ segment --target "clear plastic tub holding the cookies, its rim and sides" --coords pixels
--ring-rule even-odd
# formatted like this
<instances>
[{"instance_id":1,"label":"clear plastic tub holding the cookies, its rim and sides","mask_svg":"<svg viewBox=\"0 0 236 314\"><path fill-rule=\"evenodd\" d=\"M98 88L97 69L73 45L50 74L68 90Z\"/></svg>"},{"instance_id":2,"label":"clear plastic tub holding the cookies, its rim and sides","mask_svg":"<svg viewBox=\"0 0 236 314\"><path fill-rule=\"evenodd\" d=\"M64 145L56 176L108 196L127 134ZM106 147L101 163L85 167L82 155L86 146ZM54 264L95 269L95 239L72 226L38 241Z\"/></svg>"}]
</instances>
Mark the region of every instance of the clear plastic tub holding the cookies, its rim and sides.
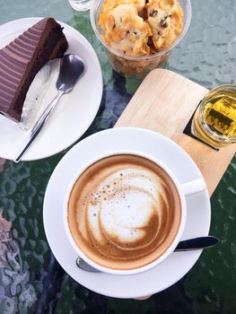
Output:
<instances>
[{"instance_id":1,"label":"clear plastic tub holding the cookies, its rim and sides","mask_svg":"<svg viewBox=\"0 0 236 314\"><path fill-rule=\"evenodd\" d=\"M179 4L183 9L183 29L179 37L170 45L170 47L151 55L128 56L127 54L110 47L101 37L103 31L101 30L98 21L102 3L103 0L94 0L92 3L90 11L92 29L104 46L113 69L119 74L125 76L144 78L144 76L153 69L157 67L164 67L169 60L172 49L179 44L179 41L183 39L188 31L188 26L191 20L190 0L179 0Z\"/></svg>"}]
</instances>

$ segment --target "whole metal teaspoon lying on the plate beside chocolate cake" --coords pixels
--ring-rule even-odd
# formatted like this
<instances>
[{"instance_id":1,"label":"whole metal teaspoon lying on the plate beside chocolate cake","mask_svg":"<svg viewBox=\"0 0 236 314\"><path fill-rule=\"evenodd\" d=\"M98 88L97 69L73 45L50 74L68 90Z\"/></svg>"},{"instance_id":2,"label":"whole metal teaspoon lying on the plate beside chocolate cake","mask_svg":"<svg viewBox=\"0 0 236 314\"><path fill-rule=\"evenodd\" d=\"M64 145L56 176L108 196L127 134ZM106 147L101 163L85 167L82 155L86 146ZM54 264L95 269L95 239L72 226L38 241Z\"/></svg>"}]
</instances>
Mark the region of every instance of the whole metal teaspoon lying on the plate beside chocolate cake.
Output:
<instances>
[{"instance_id":1,"label":"whole metal teaspoon lying on the plate beside chocolate cake","mask_svg":"<svg viewBox=\"0 0 236 314\"><path fill-rule=\"evenodd\" d=\"M37 135L39 135L39 132L46 123L50 113L56 107L57 101L62 95L73 90L75 83L82 76L84 69L85 65L82 58L73 54L65 55L62 58L62 64L56 83L58 91L57 96L49 103L48 107L39 117L39 120L33 126L30 135L27 137L26 143L23 144L20 153L18 153L17 157L14 159L15 162L21 161L22 156L26 153Z\"/></svg>"}]
</instances>

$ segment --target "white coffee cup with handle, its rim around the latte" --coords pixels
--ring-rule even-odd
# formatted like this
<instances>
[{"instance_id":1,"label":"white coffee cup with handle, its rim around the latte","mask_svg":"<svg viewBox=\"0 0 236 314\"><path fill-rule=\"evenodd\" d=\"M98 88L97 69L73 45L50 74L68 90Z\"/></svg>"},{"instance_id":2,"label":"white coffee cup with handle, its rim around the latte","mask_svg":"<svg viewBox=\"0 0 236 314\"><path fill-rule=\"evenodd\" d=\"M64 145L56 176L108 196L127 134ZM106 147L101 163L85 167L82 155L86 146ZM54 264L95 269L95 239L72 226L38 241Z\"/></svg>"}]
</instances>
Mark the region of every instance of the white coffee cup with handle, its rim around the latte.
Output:
<instances>
[{"instance_id":1,"label":"white coffee cup with handle, its rim around the latte","mask_svg":"<svg viewBox=\"0 0 236 314\"><path fill-rule=\"evenodd\" d=\"M74 187L75 181L80 177L80 175L83 173L84 170L86 170L89 166L91 166L96 161L100 161L103 158L114 156L114 155L119 155L119 154L131 154L131 155L144 157L150 161L153 161L159 167L161 167L162 170L164 170L170 176L170 179L172 179L173 183L175 184L175 187L177 188L178 193L179 193L179 199L180 199L180 204L181 204L180 206L181 207L181 219L179 223L179 229L177 231L177 234L174 240L169 246L169 248L165 250L165 252L162 254L161 257L158 257L150 264L141 266L138 268L134 268L134 269L128 269L128 270L120 270L120 269L113 269L113 268L111 269L105 266L101 266L95 263L91 258L87 257L86 254L83 252L83 250L80 249L74 242L74 239L69 229L69 225L67 221L67 204L68 204L69 196L71 194L71 190ZM88 263L90 266L98 269L101 272L105 272L105 273L109 273L113 275L134 275L134 274L142 273L160 264L165 258L169 257L170 254L173 252L173 250L177 247L177 245L179 244L179 240L181 239L182 233L185 229L186 215L187 215L186 196L196 194L203 190L205 190L205 181L203 179L196 179L196 180L189 181L185 184L180 184L178 179L174 175L174 173L165 164L163 164L162 161L159 161L158 159L156 159L150 154L138 152L138 151L119 150L119 151L112 151L107 154L98 155L96 156L96 158L92 158L86 164L84 164L83 167L78 169L77 173L74 174L74 178L72 179L70 186L67 189L67 193L65 197L65 204L64 204L64 226L65 226L67 238L70 244L72 245L72 247L74 248L74 250L77 252L78 257L83 258L83 260L86 263Z\"/></svg>"}]
</instances>

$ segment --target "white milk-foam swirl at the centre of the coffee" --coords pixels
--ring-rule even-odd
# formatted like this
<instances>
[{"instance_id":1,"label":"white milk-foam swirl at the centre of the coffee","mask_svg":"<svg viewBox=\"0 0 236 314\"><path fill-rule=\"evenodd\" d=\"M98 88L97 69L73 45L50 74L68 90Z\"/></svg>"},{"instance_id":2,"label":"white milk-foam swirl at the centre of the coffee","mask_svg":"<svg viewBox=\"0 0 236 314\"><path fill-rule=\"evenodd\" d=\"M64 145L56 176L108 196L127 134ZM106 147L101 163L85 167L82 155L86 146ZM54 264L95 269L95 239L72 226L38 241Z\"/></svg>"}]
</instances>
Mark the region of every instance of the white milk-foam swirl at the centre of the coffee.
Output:
<instances>
[{"instance_id":1,"label":"white milk-foam swirl at the centre of the coffee","mask_svg":"<svg viewBox=\"0 0 236 314\"><path fill-rule=\"evenodd\" d=\"M162 216L168 214L166 197L164 183L151 171L121 165L103 170L101 181L83 199L78 229L84 232L83 221L86 240L105 256L127 258L131 250L138 257L159 234ZM110 248L104 248L108 241Z\"/></svg>"}]
</instances>

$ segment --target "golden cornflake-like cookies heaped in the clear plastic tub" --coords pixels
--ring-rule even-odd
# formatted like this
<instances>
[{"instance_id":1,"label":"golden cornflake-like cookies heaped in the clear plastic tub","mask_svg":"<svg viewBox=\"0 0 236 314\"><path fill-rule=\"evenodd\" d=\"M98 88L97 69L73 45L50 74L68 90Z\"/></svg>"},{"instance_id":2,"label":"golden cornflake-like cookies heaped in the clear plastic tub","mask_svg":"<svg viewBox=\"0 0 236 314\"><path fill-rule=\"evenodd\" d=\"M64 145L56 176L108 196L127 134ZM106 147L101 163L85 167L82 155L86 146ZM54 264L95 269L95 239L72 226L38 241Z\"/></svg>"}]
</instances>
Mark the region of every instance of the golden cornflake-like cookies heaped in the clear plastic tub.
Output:
<instances>
[{"instance_id":1,"label":"golden cornflake-like cookies heaped in the clear plastic tub","mask_svg":"<svg viewBox=\"0 0 236 314\"><path fill-rule=\"evenodd\" d=\"M99 25L110 47L130 56L162 51L182 31L178 0L105 0Z\"/></svg>"}]
</instances>

